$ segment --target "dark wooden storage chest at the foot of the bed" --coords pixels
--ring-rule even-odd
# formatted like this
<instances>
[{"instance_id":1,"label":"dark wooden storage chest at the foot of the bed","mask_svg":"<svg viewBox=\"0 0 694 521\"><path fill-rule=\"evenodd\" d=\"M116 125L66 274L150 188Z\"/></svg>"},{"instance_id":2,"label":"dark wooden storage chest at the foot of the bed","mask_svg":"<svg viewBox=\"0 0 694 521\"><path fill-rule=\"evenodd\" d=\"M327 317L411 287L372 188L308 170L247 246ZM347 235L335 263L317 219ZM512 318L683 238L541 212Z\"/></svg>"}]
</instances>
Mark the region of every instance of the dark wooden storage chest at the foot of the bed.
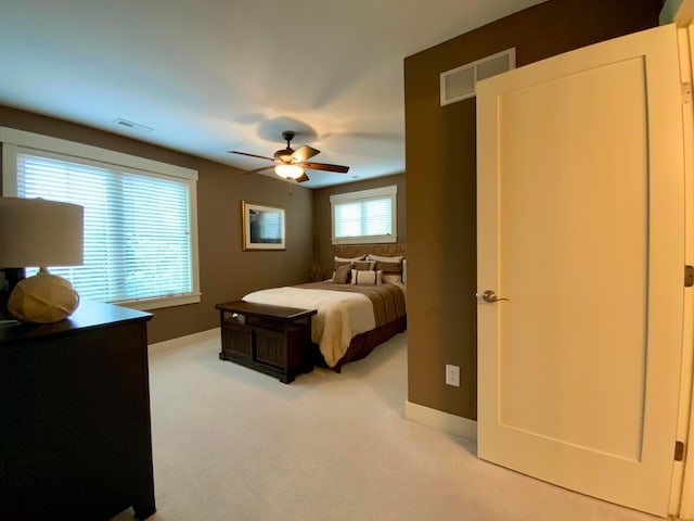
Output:
<instances>
[{"instance_id":1,"label":"dark wooden storage chest at the foot of the bed","mask_svg":"<svg viewBox=\"0 0 694 521\"><path fill-rule=\"evenodd\" d=\"M279 378L294 381L313 369L311 317L316 309L227 302L219 309L221 352L229 360Z\"/></svg>"}]
</instances>

